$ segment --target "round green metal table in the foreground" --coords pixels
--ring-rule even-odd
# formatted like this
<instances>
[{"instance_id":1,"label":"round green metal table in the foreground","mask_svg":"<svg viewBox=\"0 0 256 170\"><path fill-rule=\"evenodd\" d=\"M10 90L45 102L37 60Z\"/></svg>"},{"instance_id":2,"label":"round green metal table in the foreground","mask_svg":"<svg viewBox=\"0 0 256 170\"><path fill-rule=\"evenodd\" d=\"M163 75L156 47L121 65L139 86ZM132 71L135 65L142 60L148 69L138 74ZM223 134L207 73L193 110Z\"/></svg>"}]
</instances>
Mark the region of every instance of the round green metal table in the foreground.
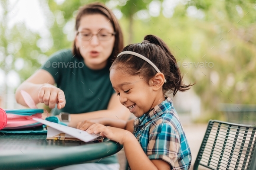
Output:
<instances>
[{"instance_id":1,"label":"round green metal table in the foreground","mask_svg":"<svg viewBox=\"0 0 256 170\"><path fill-rule=\"evenodd\" d=\"M85 144L46 140L45 134L0 133L0 170L45 170L81 164L111 156L121 148L122 145L108 139Z\"/></svg>"}]
</instances>

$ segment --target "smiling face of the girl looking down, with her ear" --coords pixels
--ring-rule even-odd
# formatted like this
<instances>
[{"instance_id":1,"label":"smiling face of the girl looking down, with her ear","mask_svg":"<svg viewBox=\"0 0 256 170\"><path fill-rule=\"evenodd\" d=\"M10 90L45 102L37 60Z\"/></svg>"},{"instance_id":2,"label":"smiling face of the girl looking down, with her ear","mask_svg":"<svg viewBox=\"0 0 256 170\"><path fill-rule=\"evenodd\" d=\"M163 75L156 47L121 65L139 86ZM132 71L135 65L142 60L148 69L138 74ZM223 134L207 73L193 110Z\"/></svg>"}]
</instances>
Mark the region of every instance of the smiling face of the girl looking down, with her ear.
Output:
<instances>
[{"instance_id":1,"label":"smiling face of the girl looking down, with her ear","mask_svg":"<svg viewBox=\"0 0 256 170\"><path fill-rule=\"evenodd\" d=\"M155 90L153 85L148 85L146 80L141 79L139 75L128 75L120 68L114 67L110 70L110 80L120 96L121 104L136 117L141 117L152 107L164 101L163 93Z\"/></svg>"}]
</instances>

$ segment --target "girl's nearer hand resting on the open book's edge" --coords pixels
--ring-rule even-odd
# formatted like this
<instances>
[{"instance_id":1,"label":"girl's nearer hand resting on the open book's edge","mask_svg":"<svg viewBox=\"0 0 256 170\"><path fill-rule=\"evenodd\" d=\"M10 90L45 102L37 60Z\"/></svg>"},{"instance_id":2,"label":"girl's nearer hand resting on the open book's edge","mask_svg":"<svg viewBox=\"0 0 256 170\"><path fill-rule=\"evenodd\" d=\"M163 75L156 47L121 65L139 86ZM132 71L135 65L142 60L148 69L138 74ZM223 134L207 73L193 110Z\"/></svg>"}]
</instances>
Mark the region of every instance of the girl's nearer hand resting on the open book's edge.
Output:
<instances>
[{"instance_id":1,"label":"girl's nearer hand resting on the open book's edge","mask_svg":"<svg viewBox=\"0 0 256 170\"><path fill-rule=\"evenodd\" d=\"M103 137L106 137L112 141L119 142L120 144L124 144L124 142L129 139L129 137L134 137L134 135L132 135L132 133L127 130L104 126L98 123L90 126L86 132L90 134L100 134Z\"/></svg>"}]
</instances>

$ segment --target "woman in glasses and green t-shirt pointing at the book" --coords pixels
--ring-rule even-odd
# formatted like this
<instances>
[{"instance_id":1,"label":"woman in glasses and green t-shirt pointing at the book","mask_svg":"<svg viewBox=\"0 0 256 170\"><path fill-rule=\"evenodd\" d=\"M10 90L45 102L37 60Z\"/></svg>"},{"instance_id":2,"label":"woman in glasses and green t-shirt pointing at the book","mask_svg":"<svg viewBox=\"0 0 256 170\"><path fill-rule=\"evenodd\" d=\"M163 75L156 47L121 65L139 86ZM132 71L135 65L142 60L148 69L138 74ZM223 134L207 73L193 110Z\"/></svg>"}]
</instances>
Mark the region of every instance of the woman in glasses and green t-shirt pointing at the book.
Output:
<instances>
[{"instance_id":1,"label":"woman in glasses and green t-shirt pointing at the book","mask_svg":"<svg viewBox=\"0 0 256 170\"><path fill-rule=\"evenodd\" d=\"M109 80L109 67L123 48L118 20L106 6L92 3L79 9L75 32L73 51L53 54L17 88L17 102L26 106L20 94L20 90L25 90L36 103L55 108L54 115L70 113L71 127L99 117L127 120L129 111L120 104ZM107 169L118 169L117 160L102 159L97 163L108 164L103 166ZM89 167L83 167L86 168Z\"/></svg>"}]
</instances>

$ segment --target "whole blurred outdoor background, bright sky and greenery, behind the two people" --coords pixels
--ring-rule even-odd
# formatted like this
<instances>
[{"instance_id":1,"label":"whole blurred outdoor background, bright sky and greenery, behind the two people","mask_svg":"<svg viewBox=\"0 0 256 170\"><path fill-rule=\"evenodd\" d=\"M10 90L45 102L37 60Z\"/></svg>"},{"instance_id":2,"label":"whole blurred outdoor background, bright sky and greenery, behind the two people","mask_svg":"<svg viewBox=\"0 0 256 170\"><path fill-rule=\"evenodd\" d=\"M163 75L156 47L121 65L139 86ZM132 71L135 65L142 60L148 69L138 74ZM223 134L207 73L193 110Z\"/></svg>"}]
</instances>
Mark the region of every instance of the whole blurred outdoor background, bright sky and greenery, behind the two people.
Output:
<instances>
[{"instance_id":1,"label":"whole blurred outdoor background, bright sky and greenery, behind the two people","mask_svg":"<svg viewBox=\"0 0 256 170\"><path fill-rule=\"evenodd\" d=\"M21 108L16 88L62 48L75 15L92 0L1 0L0 107ZM154 34L177 58L191 90L174 106L187 123L225 120L220 103L256 104L255 0L102 0L119 19L125 45Z\"/></svg>"}]
</instances>

